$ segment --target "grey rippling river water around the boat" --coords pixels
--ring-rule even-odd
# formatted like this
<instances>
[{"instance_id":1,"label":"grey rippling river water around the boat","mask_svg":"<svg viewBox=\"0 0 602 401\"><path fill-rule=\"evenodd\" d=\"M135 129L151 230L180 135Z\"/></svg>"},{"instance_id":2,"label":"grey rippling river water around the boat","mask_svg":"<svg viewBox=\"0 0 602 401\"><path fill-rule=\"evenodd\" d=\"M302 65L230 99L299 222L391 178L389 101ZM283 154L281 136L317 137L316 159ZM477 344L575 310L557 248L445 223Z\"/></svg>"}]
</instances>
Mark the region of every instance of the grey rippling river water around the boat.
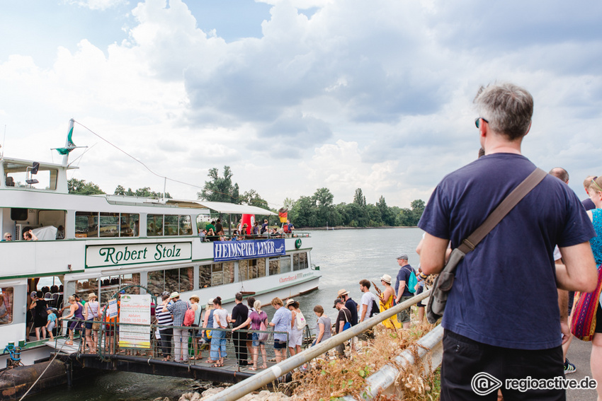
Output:
<instances>
[{"instance_id":1,"label":"grey rippling river water around the boat","mask_svg":"<svg viewBox=\"0 0 602 401\"><path fill-rule=\"evenodd\" d=\"M320 267L319 289L296 298L309 322L314 322L313 308L322 305L334 321L332 308L336 293L346 289L356 302L361 298L359 281L368 279L380 286L382 274L397 275L397 256L409 255L410 265L416 267L419 257L416 245L422 236L419 228L370 228L357 230L312 231L312 263ZM266 308L271 317L272 308ZM200 387L191 379L149 376L139 373L113 372L76 381L66 386L28 397L36 401L142 401L157 397L177 400L182 393Z\"/></svg>"}]
</instances>

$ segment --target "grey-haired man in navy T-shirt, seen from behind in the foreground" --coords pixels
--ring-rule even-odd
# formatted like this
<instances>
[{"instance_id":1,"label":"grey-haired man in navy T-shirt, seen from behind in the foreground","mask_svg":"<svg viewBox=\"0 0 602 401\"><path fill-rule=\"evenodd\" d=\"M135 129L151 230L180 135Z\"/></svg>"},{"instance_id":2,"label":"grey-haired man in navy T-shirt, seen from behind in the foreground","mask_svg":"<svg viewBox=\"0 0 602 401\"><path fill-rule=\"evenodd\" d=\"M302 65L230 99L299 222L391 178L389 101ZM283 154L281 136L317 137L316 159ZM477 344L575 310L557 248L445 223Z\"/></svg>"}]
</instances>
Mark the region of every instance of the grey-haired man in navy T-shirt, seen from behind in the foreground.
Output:
<instances>
[{"instance_id":1,"label":"grey-haired man in navy T-shirt, seen from behind in the foreground","mask_svg":"<svg viewBox=\"0 0 602 401\"><path fill-rule=\"evenodd\" d=\"M502 83L481 88L475 104L485 156L445 176L431 195L419 222L426 231L420 255L425 274L441 272L448 243L457 248L535 170L521 155L533 115L530 93ZM569 330L560 321L557 287L594 291L589 238L595 235L577 195L547 175L467 253L443 315L441 400L482 400L471 386L481 372L501 380L504 397L563 399L564 390L521 393L504 383L564 376L560 332L567 337ZM555 245L564 265L554 263Z\"/></svg>"}]
</instances>

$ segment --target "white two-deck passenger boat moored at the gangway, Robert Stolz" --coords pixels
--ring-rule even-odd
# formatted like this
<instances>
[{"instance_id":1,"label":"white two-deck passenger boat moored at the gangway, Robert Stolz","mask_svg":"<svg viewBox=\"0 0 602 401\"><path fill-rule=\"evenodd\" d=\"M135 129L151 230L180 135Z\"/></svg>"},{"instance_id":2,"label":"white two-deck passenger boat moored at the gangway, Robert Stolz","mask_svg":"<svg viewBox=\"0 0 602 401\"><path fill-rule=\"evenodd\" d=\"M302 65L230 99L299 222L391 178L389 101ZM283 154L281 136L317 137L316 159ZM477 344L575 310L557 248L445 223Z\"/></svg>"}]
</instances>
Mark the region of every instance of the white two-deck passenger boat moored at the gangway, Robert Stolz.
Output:
<instances>
[{"instance_id":1,"label":"white two-deck passenger boat moored at the gangway, Robert Stolz","mask_svg":"<svg viewBox=\"0 0 602 401\"><path fill-rule=\"evenodd\" d=\"M58 308L72 294L86 299L96 293L105 303L124 287L127 294L178 291L186 300L197 294L202 305L215 296L233 302L239 291L268 304L275 296L317 289L309 233L215 242L198 236L210 216L273 212L222 202L69 194L67 170L73 167L67 158L60 164L0 159L0 228L12 236L0 242L0 368L10 357L2 350L26 338L29 294L42 283L55 284L42 296ZM38 240L23 240L29 229ZM26 344L21 361L33 364L49 350L42 342Z\"/></svg>"}]
</instances>

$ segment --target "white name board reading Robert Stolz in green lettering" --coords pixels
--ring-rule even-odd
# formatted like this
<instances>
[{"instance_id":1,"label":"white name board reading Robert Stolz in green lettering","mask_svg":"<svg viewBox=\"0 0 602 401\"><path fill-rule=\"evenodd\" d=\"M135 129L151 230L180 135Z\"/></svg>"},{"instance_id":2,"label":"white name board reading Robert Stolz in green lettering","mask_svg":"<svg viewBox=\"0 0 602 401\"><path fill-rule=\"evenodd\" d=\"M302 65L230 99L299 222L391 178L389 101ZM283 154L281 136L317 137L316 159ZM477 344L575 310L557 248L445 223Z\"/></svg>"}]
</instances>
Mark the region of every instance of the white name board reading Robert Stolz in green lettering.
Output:
<instances>
[{"instance_id":1,"label":"white name board reading Robert Stolz in green lettering","mask_svg":"<svg viewBox=\"0 0 602 401\"><path fill-rule=\"evenodd\" d=\"M86 267L191 260L191 243L93 245L86 248Z\"/></svg>"}]
</instances>

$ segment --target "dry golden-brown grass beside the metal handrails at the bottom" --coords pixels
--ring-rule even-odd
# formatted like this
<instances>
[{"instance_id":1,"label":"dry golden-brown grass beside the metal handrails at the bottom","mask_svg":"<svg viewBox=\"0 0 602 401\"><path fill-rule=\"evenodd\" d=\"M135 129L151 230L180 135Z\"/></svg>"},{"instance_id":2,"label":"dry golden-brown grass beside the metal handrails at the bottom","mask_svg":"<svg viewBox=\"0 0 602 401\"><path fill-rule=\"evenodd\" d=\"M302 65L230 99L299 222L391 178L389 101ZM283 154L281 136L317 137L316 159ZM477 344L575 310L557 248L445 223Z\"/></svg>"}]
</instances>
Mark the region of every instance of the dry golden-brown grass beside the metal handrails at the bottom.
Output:
<instances>
[{"instance_id":1,"label":"dry golden-brown grass beside the metal handrails at the bottom","mask_svg":"<svg viewBox=\"0 0 602 401\"><path fill-rule=\"evenodd\" d=\"M322 355L312 361L312 369L306 373L297 372L293 382L283 385L281 390L293 394L293 400L336 400L338 397L353 395L360 397L365 388L365 378L375 373L387 363L395 364L394 359L434 326L428 323L413 325L409 330L390 330L382 325L375 327L375 339L371 344L357 351L347 348L348 358L336 359ZM416 347L414 348L416 352ZM417 358L416 358L417 359ZM431 369L426 369L418 359L397 377L397 389L403 389L403 399L411 401L434 401L438 399L438 380ZM430 367L430 366L429 366ZM434 390L433 390L434 387ZM379 395L376 400L399 400L401 393Z\"/></svg>"}]
</instances>

